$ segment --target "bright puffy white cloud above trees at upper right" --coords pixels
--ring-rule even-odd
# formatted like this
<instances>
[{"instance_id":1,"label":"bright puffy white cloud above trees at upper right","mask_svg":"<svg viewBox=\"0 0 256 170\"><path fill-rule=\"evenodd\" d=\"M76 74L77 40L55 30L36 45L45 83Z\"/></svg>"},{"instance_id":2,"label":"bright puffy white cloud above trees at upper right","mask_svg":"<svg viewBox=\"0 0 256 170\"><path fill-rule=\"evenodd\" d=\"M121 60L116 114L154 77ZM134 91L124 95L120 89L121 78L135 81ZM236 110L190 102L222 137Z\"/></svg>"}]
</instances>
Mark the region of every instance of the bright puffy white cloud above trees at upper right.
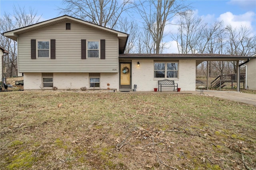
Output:
<instances>
[{"instance_id":1,"label":"bright puffy white cloud above trees at upper right","mask_svg":"<svg viewBox=\"0 0 256 170\"><path fill-rule=\"evenodd\" d=\"M247 26L252 29L252 22L255 20L254 12L246 12L241 15L234 15L231 12L221 14L217 20L223 20L224 26L231 25L233 28L240 28L241 26Z\"/></svg>"}]
</instances>

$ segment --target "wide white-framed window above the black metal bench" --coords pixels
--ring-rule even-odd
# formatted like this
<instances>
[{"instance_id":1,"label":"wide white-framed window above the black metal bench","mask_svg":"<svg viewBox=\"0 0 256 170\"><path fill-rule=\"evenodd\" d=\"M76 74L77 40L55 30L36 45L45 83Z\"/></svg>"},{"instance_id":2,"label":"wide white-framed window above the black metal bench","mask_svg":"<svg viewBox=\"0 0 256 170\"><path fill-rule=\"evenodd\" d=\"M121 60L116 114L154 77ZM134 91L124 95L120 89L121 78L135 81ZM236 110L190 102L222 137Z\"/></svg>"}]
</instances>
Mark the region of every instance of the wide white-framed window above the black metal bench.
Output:
<instances>
[{"instance_id":1,"label":"wide white-framed window above the black metal bench","mask_svg":"<svg viewBox=\"0 0 256 170\"><path fill-rule=\"evenodd\" d=\"M178 78L178 62L154 63L154 78Z\"/></svg>"}]
</instances>

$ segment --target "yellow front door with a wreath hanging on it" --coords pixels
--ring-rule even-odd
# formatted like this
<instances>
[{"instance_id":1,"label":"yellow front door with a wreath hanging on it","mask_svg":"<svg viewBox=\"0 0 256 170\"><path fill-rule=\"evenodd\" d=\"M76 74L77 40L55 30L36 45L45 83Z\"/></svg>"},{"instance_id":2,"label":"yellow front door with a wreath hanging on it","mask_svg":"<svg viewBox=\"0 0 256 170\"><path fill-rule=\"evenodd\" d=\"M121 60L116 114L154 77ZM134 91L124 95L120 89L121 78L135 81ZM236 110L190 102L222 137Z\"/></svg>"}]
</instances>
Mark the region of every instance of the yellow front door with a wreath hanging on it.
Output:
<instances>
[{"instance_id":1,"label":"yellow front door with a wreath hanging on it","mask_svg":"<svg viewBox=\"0 0 256 170\"><path fill-rule=\"evenodd\" d=\"M131 63L120 63L120 89L131 87Z\"/></svg>"}]
</instances>

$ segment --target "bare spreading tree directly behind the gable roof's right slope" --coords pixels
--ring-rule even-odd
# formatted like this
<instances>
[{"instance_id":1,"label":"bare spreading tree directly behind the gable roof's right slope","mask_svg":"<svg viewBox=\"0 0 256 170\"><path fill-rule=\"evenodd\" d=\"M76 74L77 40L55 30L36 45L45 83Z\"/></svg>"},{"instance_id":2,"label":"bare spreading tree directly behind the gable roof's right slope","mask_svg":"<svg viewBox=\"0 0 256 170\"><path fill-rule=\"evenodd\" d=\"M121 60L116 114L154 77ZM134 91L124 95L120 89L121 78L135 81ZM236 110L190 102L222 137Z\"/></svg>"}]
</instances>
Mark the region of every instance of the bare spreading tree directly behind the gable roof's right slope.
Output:
<instances>
[{"instance_id":1,"label":"bare spreading tree directly behind the gable roof's right slope","mask_svg":"<svg viewBox=\"0 0 256 170\"><path fill-rule=\"evenodd\" d=\"M133 8L130 0L64 0L61 14L87 20L94 24L113 29L122 13Z\"/></svg>"}]
</instances>

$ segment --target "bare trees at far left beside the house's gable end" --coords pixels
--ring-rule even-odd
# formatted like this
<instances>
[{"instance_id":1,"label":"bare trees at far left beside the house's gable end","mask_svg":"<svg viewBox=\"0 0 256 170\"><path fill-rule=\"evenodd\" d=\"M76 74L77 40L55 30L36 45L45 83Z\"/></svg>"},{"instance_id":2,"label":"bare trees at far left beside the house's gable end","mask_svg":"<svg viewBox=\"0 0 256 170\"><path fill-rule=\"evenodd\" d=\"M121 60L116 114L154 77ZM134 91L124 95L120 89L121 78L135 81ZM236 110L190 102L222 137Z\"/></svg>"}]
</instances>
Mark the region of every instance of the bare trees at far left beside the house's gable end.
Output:
<instances>
[{"instance_id":1,"label":"bare trees at far left beside the house's gable end","mask_svg":"<svg viewBox=\"0 0 256 170\"><path fill-rule=\"evenodd\" d=\"M20 6L13 6L13 9L14 14L4 13L0 18L0 32L8 32L10 30L35 24L39 22L41 18L41 16L37 16L37 12L32 8L29 8L28 12L25 8L21 8ZM3 63L4 70L8 73L6 75L9 77L17 75L17 42L1 35L0 45L10 52L9 55L4 58Z\"/></svg>"}]
</instances>

